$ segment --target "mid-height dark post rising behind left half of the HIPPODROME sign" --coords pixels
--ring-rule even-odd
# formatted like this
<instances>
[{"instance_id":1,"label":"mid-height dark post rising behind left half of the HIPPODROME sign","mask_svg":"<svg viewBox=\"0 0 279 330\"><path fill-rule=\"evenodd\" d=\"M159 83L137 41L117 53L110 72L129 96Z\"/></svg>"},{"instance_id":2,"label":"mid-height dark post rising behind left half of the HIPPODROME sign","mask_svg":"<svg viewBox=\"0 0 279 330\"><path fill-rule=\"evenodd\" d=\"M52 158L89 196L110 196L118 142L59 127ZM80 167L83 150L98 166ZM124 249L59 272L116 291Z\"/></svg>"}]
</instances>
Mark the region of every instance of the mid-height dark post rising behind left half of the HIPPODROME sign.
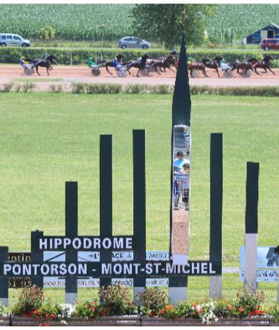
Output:
<instances>
[{"instance_id":1,"label":"mid-height dark post rising behind left half of the HIPPODROME sign","mask_svg":"<svg viewBox=\"0 0 279 330\"><path fill-rule=\"evenodd\" d=\"M66 182L66 227L65 234L68 237L77 236L77 182ZM66 262L77 263L77 250L68 247L66 250ZM77 301L77 278L66 277L66 303Z\"/></svg>"}]
</instances>

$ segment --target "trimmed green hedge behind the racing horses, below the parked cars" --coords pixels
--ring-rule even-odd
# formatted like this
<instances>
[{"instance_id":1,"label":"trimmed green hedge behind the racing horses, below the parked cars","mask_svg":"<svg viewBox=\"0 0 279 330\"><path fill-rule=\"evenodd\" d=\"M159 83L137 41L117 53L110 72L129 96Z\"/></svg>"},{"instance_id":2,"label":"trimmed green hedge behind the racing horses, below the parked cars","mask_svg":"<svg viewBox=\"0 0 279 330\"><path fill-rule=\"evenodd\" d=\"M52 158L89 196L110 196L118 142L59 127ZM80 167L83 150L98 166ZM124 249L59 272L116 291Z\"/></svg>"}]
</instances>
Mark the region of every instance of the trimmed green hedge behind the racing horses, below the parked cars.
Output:
<instances>
[{"instance_id":1,"label":"trimmed green hedge behind the racing horses, below the parked cars","mask_svg":"<svg viewBox=\"0 0 279 330\"><path fill-rule=\"evenodd\" d=\"M167 50L160 49L149 49L149 50L121 50L119 48L111 48L103 50L103 57L106 59L114 58L119 52L122 52L126 56L126 60L137 59L141 57L145 52L149 56L156 58L167 55ZM19 63L20 57L22 55L26 57L31 57L36 59L44 55L55 54L58 59L59 64L70 64L70 54L72 54L72 64L84 64L86 59L90 56L97 57L100 59L100 48L17 48L17 47L6 47L0 48L0 62L1 63ZM266 52L260 49L257 50L220 50L220 49L207 49L207 50L196 50L189 49L188 54L195 60L202 60L204 57L209 57L213 59L218 55L223 55L227 62L234 62L234 60L249 59L250 57L257 57L262 59ZM279 52L269 52L269 54L274 55L279 58ZM279 59L273 61L273 67L279 67Z\"/></svg>"}]
</instances>

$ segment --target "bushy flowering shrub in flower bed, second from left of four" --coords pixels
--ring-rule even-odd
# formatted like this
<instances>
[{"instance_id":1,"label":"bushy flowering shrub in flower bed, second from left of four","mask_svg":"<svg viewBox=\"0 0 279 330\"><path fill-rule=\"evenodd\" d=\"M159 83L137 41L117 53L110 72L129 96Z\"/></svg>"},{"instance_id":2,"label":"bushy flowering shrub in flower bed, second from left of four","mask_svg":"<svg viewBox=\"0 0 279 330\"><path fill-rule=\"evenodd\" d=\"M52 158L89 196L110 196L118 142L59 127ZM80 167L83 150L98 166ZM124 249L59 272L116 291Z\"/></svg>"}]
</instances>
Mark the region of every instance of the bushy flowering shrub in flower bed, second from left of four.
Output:
<instances>
[{"instance_id":1,"label":"bushy flowering shrub in flower bed, second from left of four","mask_svg":"<svg viewBox=\"0 0 279 330\"><path fill-rule=\"evenodd\" d=\"M105 308L107 315L135 313L135 304L127 287L121 287L120 285L100 287L99 294L100 304Z\"/></svg>"}]
</instances>

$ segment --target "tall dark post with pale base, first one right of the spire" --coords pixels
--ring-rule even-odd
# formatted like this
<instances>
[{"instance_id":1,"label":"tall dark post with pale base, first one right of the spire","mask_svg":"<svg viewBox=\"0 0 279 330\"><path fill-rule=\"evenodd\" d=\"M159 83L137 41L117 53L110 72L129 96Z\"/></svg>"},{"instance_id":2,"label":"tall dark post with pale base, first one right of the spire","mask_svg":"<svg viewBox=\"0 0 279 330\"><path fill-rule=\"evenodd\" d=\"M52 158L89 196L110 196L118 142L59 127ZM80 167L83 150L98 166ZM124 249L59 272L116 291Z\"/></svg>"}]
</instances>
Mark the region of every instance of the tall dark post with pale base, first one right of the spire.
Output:
<instances>
[{"instance_id":1,"label":"tall dark post with pale base, first one right of the spire","mask_svg":"<svg viewBox=\"0 0 279 330\"><path fill-rule=\"evenodd\" d=\"M223 134L210 139L210 243L209 260L222 271L222 206L223 206ZM211 276L210 296L222 298L222 275Z\"/></svg>"}]
</instances>

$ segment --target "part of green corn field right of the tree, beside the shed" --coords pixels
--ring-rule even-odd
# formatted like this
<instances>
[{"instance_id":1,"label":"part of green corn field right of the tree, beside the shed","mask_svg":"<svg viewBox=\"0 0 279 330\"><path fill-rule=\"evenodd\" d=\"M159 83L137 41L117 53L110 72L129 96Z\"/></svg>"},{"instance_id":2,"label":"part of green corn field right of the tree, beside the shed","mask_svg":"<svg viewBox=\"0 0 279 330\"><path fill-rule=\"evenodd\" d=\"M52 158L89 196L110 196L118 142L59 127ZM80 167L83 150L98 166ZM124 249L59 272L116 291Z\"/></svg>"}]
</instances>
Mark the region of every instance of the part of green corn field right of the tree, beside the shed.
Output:
<instances>
[{"instance_id":1,"label":"part of green corn field right of the tree, beside the shed","mask_svg":"<svg viewBox=\"0 0 279 330\"><path fill-rule=\"evenodd\" d=\"M218 5L207 26L211 41L232 43L270 23L279 25L278 4L227 4Z\"/></svg>"}]
</instances>

